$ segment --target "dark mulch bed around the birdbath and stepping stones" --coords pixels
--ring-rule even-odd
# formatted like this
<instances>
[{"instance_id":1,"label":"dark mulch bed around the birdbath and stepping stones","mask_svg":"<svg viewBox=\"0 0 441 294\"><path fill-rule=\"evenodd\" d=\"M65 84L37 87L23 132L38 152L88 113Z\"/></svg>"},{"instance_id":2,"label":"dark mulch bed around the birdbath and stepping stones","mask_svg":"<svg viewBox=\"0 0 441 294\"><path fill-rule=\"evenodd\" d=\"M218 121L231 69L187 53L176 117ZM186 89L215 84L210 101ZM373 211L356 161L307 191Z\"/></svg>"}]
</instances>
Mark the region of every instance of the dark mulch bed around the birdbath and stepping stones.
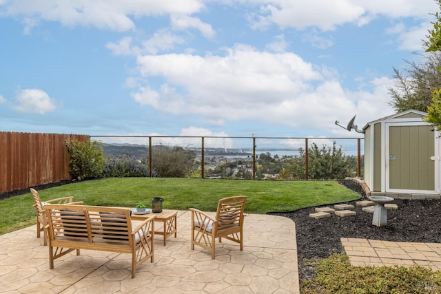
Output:
<instances>
[{"instance_id":1,"label":"dark mulch bed around the birdbath and stepping stones","mask_svg":"<svg viewBox=\"0 0 441 294\"><path fill-rule=\"evenodd\" d=\"M360 193L367 200L362 187L353 180L342 180L342 185ZM356 206L360 200L345 202ZM271 213L294 220L297 233L298 266L300 280L314 275L305 262L312 258L327 258L333 253L344 253L340 238L367 238L397 242L441 243L441 200L394 200L397 210L387 211L386 227L372 225L372 213L356 206L356 216L331 216L316 220L309 218L314 207L288 213ZM333 207L333 205L327 205Z\"/></svg>"}]
</instances>

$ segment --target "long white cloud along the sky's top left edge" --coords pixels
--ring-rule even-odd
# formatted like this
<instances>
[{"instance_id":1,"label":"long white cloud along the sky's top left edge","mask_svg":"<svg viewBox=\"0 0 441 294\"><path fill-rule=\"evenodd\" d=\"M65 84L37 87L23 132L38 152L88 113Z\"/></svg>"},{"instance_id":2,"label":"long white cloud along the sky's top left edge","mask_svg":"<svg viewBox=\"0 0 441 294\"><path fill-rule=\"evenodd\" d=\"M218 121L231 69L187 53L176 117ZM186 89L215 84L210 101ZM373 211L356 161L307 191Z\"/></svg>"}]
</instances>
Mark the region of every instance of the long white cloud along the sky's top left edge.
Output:
<instances>
[{"instance_id":1,"label":"long white cloud along the sky's top left edge","mask_svg":"<svg viewBox=\"0 0 441 294\"><path fill-rule=\"evenodd\" d=\"M3 14L28 19L25 31L37 21L59 21L65 26L94 26L119 32L133 30L130 17L192 14L203 8L201 0L14 0L4 4Z\"/></svg>"}]
</instances>

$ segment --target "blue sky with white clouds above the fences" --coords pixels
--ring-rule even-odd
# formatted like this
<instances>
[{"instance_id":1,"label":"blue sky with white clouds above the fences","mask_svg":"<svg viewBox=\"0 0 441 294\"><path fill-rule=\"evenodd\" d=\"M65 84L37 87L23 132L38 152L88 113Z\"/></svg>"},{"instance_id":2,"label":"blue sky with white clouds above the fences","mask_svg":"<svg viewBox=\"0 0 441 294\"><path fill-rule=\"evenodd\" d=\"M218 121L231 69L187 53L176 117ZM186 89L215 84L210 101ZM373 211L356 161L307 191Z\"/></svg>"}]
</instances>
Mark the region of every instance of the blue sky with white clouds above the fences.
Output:
<instances>
[{"instance_id":1,"label":"blue sky with white clouds above the fences","mask_svg":"<svg viewBox=\"0 0 441 294\"><path fill-rule=\"evenodd\" d=\"M362 137L433 0L0 0L0 132Z\"/></svg>"}]
</instances>

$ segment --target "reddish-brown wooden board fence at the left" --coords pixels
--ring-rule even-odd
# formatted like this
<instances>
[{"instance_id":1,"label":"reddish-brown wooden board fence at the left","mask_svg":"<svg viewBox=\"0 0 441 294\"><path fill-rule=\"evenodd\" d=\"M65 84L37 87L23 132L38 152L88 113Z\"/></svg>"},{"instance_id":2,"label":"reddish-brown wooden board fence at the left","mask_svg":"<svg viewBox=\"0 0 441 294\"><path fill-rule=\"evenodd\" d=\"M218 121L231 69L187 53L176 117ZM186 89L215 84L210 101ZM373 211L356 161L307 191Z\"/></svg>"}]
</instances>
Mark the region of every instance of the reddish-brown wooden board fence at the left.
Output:
<instances>
[{"instance_id":1,"label":"reddish-brown wooden board fence at the left","mask_svg":"<svg viewBox=\"0 0 441 294\"><path fill-rule=\"evenodd\" d=\"M65 142L88 135L0 132L0 193L70 180Z\"/></svg>"}]
</instances>

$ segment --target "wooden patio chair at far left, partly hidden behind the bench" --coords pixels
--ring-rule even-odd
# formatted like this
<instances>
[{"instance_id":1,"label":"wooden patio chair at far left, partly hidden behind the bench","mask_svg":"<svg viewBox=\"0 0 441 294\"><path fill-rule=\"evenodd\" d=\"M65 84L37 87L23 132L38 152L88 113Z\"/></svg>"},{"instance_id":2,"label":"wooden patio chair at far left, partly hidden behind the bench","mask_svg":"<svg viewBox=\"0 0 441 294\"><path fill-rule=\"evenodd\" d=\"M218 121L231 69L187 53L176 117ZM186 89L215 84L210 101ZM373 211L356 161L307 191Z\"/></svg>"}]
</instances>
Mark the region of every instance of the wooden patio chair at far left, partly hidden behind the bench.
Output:
<instances>
[{"instance_id":1,"label":"wooden patio chair at far left, partly hidden behind the bench","mask_svg":"<svg viewBox=\"0 0 441 294\"><path fill-rule=\"evenodd\" d=\"M48 231L45 229L45 225L48 224L48 218L44 209L45 204L83 204L83 201L73 202L74 198L71 196L43 202L37 190L31 188L30 193L32 193L32 197L34 198L35 214L37 215L37 238L40 238L40 233L43 231L43 244L46 246L48 244Z\"/></svg>"}]
</instances>

